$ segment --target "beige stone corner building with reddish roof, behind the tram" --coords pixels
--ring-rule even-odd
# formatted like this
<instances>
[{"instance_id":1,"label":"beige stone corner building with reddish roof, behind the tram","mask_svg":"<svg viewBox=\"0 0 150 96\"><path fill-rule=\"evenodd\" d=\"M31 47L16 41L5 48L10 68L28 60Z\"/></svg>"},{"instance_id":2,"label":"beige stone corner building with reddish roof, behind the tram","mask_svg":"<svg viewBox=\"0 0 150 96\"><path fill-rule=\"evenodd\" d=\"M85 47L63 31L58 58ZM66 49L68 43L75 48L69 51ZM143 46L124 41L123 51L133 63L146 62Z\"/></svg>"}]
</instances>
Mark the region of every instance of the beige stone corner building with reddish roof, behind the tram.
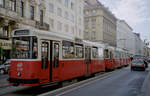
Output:
<instances>
[{"instance_id":1,"label":"beige stone corner building with reddish roof, behind the tram","mask_svg":"<svg viewBox=\"0 0 150 96\"><path fill-rule=\"evenodd\" d=\"M85 0L84 39L116 46L115 16L98 0Z\"/></svg>"}]
</instances>

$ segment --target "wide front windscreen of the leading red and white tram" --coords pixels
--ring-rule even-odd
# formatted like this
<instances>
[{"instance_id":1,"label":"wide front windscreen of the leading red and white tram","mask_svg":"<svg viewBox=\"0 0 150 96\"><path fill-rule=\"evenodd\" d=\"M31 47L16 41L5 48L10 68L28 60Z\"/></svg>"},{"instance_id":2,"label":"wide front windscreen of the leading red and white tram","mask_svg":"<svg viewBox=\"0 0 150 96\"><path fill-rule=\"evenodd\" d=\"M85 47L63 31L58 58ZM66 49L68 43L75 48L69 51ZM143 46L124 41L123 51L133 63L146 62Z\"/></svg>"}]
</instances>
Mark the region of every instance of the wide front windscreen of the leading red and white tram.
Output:
<instances>
[{"instance_id":1,"label":"wide front windscreen of the leading red and white tram","mask_svg":"<svg viewBox=\"0 0 150 96\"><path fill-rule=\"evenodd\" d=\"M36 37L14 37L12 44L12 58L36 59L38 46Z\"/></svg>"}]
</instances>

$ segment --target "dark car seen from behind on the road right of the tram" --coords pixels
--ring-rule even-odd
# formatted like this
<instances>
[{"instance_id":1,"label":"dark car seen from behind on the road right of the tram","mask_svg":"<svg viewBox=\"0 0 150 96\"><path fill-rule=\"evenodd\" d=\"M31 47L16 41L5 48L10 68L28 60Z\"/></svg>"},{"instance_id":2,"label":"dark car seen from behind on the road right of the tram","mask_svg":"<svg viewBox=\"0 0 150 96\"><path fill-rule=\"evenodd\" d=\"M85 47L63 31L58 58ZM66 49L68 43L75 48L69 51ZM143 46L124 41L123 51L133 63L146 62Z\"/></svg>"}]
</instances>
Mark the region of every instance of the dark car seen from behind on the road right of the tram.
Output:
<instances>
[{"instance_id":1,"label":"dark car seen from behind on the road right of the tram","mask_svg":"<svg viewBox=\"0 0 150 96\"><path fill-rule=\"evenodd\" d=\"M136 69L142 69L143 71L145 71L146 64L143 59L137 59L131 62L131 71Z\"/></svg>"}]
</instances>

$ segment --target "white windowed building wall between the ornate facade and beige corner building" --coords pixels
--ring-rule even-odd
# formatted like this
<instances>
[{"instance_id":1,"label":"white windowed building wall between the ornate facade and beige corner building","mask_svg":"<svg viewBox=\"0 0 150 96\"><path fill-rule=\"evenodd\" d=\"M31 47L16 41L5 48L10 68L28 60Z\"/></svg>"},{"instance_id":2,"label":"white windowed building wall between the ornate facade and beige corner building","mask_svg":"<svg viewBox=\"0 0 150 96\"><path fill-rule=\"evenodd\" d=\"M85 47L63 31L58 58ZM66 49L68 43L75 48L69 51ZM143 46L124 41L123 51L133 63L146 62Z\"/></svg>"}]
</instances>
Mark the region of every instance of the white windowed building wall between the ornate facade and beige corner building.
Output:
<instances>
[{"instance_id":1,"label":"white windowed building wall between the ornate facade and beige corner building","mask_svg":"<svg viewBox=\"0 0 150 96\"><path fill-rule=\"evenodd\" d=\"M65 5L65 1L68 1L68 6ZM50 31L83 39L83 0L45 0L45 2ZM61 16L58 15L59 9ZM58 28L60 25L61 29Z\"/></svg>"}]
</instances>

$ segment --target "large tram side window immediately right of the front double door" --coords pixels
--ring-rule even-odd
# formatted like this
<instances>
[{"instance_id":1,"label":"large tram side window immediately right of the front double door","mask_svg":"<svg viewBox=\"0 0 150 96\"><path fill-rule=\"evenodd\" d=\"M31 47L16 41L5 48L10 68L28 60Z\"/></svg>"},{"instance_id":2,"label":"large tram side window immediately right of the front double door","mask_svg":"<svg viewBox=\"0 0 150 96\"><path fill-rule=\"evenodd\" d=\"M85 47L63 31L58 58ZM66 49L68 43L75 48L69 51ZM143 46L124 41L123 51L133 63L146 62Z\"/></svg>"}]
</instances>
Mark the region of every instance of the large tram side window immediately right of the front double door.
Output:
<instances>
[{"instance_id":1,"label":"large tram side window immediately right of the front double door","mask_svg":"<svg viewBox=\"0 0 150 96\"><path fill-rule=\"evenodd\" d=\"M74 44L69 41L63 41L62 54L64 59L74 58Z\"/></svg>"}]
</instances>

